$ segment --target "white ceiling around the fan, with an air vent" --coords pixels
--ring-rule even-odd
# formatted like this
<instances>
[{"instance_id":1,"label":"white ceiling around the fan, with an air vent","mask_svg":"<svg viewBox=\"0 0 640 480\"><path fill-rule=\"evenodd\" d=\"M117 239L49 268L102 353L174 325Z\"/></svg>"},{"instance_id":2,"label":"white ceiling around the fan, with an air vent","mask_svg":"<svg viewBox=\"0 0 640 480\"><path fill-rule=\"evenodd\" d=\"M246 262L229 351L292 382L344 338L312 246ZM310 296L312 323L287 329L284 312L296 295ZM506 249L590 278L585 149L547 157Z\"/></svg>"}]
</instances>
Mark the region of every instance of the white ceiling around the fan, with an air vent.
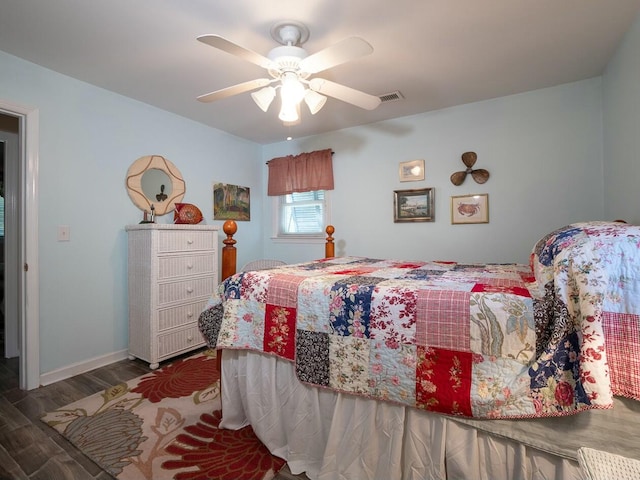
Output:
<instances>
[{"instance_id":1,"label":"white ceiling around the fan, with an air vent","mask_svg":"<svg viewBox=\"0 0 640 480\"><path fill-rule=\"evenodd\" d=\"M598 76L639 11L640 0L0 0L0 50L267 144ZM404 99L368 111L330 98L293 127L249 93L196 101L265 76L198 35L266 55L282 20L309 28L309 54L364 38L371 55L319 76Z\"/></svg>"}]
</instances>

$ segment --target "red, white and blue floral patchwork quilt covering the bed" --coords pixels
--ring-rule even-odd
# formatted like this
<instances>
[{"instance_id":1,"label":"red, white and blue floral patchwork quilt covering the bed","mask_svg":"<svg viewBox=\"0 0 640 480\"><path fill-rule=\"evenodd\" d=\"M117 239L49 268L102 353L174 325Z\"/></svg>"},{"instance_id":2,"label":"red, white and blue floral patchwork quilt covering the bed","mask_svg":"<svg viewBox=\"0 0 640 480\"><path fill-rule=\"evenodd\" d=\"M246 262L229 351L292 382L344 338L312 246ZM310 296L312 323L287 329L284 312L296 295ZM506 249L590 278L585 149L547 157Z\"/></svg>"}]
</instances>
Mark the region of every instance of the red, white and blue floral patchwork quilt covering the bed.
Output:
<instances>
[{"instance_id":1,"label":"red, white and blue floral patchwork quilt covering the bed","mask_svg":"<svg viewBox=\"0 0 640 480\"><path fill-rule=\"evenodd\" d=\"M304 383L443 414L611 408L613 394L640 399L639 252L639 228L592 222L542 238L529 265L340 257L240 272L200 329L212 347L295 362Z\"/></svg>"}]
</instances>

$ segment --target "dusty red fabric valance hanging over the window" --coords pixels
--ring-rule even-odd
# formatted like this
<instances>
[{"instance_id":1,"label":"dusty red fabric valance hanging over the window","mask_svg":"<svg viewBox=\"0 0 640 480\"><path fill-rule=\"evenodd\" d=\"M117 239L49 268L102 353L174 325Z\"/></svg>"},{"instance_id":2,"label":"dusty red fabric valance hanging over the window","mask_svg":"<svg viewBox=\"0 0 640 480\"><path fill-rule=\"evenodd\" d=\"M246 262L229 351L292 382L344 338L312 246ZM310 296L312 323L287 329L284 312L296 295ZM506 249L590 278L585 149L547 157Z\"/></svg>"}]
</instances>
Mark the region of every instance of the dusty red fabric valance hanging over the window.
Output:
<instances>
[{"instance_id":1,"label":"dusty red fabric valance hanging over the window","mask_svg":"<svg viewBox=\"0 0 640 480\"><path fill-rule=\"evenodd\" d=\"M331 149L278 157L267 162L267 165L269 166L267 195L279 196L293 192L333 190Z\"/></svg>"}]
</instances>

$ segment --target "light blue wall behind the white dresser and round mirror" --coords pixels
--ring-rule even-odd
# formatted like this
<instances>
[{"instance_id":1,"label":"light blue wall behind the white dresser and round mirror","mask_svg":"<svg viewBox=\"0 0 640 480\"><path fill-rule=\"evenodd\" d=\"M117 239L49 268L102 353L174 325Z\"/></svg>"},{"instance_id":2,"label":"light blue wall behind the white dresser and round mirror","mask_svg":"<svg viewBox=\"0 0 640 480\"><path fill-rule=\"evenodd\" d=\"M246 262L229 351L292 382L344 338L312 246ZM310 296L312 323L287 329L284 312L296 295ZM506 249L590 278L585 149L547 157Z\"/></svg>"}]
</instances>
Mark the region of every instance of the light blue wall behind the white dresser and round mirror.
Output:
<instances>
[{"instance_id":1,"label":"light blue wall behind the white dresser and round mirror","mask_svg":"<svg viewBox=\"0 0 640 480\"><path fill-rule=\"evenodd\" d=\"M251 187L259 205L261 147L2 52L0 97L40 114L41 373L126 349L124 227L142 219L125 189L131 163L171 160L186 182L184 201L205 223L221 224L212 220L213 182ZM250 258L262 249L256 212L238 235ZM71 241L57 241L58 225L70 226Z\"/></svg>"}]
</instances>

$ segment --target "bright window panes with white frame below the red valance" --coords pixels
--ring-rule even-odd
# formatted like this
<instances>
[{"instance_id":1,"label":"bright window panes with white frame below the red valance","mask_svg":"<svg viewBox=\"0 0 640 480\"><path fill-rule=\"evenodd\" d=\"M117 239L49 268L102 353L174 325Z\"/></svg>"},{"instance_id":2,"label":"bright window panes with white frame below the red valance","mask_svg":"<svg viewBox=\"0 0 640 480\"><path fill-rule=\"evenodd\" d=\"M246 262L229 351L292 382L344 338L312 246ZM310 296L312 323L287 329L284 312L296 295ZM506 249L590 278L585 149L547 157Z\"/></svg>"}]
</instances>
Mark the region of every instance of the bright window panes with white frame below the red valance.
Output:
<instances>
[{"instance_id":1,"label":"bright window panes with white frame below the red valance","mask_svg":"<svg viewBox=\"0 0 640 480\"><path fill-rule=\"evenodd\" d=\"M276 236L286 237L323 237L329 224L329 192L294 192L276 198L277 212Z\"/></svg>"}]
</instances>

